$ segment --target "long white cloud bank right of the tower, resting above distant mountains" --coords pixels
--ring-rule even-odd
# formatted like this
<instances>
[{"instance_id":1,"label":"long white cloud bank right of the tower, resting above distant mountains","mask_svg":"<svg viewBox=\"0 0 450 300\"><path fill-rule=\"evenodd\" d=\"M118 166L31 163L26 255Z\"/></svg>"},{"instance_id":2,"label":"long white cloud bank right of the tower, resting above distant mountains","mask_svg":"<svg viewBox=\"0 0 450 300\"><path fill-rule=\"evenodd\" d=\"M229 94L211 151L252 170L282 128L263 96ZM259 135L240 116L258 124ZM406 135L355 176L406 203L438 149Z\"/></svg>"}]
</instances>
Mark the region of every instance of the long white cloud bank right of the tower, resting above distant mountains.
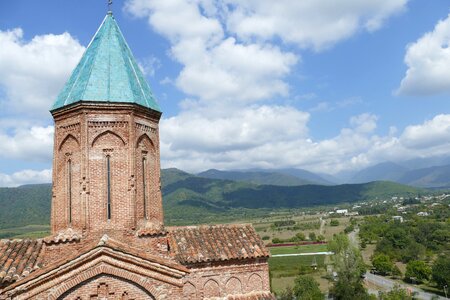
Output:
<instances>
[{"instance_id":1,"label":"long white cloud bank right of the tower, resting above distant mountains","mask_svg":"<svg viewBox=\"0 0 450 300\"><path fill-rule=\"evenodd\" d=\"M450 147L450 115L398 134L390 128L380 136L374 134L377 116L365 113L350 118L335 137L318 141L308 134L309 117L292 107L264 106L229 118L209 119L197 111L164 119L162 164L193 172L297 167L335 174L384 161L446 155Z\"/></svg>"}]
</instances>

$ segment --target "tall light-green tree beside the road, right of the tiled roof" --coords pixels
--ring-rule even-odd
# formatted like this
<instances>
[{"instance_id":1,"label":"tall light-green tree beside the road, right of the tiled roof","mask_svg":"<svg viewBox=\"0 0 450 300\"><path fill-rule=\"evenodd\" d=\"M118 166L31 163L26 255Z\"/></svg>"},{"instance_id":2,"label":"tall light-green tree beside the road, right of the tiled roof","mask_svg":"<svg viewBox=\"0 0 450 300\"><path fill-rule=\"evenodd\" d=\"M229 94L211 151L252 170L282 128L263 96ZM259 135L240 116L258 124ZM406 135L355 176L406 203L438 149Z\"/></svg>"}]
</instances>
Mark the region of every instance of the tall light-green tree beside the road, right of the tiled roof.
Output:
<instances>
[{"instance_id":1,"label":"tall light-green tree beside the road, right of the tiled roof","mask_svg":"<svg viewBox=\"0 0 450 300\"><path fill-rule=\"evenodd\" d=\"M338 234L328 244L333 256L337 280L330 290L335 299L360 300L369 299L369 294L363 285L362 275L366 267L359 250L345 234Z\"/></svg>"}]
</instances>

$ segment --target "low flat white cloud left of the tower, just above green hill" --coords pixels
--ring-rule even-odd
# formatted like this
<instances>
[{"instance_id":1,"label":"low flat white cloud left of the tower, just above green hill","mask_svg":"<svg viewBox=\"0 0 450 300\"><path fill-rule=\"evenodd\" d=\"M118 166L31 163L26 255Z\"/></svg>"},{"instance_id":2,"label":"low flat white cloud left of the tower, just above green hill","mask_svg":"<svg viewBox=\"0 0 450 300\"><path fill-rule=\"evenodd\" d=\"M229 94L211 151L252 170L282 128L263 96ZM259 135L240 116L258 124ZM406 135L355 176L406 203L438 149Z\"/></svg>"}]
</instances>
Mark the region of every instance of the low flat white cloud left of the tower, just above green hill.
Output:
<instances>
[{"instance_id":1,"label":"low flat white cloud left of the tower, just above green hill","mask_svg":"<svg viewBox=\"0 0 450 300\"><path fill-rule=\"evenodd\" d=\"M15 187L23 184L52 182L52 170L23 170L14 174L0 173L0 187Z\"/></svg>"}]
</instances>

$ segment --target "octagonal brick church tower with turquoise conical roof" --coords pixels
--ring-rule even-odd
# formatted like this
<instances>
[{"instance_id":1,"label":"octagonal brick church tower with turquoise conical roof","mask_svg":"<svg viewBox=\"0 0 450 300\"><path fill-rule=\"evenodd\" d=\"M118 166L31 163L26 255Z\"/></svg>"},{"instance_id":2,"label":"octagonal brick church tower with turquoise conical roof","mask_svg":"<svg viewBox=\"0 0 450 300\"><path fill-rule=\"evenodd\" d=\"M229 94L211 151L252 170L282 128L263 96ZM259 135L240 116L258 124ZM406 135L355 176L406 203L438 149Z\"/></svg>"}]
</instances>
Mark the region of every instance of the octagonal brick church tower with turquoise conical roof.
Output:
<instances>
[{"instance_id":1,"label":"octagonal brick church tower with turquoise conical roof","mask_svg":"<svg viewBox=\"0 0 450 300\"><path fill-rule=\"evenodd\" d=\"M112 13L51 113L52 234L162 232L161 110Z\"/></svg>"}]
</instances>

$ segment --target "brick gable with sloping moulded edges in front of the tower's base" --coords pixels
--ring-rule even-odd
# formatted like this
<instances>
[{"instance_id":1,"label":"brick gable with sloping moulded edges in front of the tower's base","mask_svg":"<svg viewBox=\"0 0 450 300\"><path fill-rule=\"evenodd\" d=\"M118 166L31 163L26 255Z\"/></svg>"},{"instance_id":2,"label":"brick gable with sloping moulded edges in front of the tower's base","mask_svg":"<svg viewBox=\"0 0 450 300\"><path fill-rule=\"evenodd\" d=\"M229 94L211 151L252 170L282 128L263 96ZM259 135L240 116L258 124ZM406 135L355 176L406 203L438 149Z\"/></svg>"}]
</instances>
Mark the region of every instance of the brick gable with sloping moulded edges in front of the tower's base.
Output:
<instances>
[{"instance_id":1,"label":"brick gable with sloping moulded edges in front of the tower's base","mask_svg":"<svg viewBox=\"0 0 450 300\"><path fill-rule=\"evenodd\" d=\"M120 281L123 283L121 286L133 286L131 290L135 292L140 290L139 293L147 293L157 299L170 299L169 295L178 294L182 289L182 278L188 272L186 268L170 260L149 254L139 255L139 251L126 249L121 243L102 239L89 251L45 266L7 286L0 294L24 299L58 299L67 293L75 295L84 291L85 285L95 281L95 278L109 278L98 279L96 282L109 282L112 286L114 282ZM114 293L119 295L127 292L126 295L131 295L129 290L124 288ZM92 289L86 291L90 293ZM93 291L92 293L95 296Z\"/></svg>"}]
</instances>

